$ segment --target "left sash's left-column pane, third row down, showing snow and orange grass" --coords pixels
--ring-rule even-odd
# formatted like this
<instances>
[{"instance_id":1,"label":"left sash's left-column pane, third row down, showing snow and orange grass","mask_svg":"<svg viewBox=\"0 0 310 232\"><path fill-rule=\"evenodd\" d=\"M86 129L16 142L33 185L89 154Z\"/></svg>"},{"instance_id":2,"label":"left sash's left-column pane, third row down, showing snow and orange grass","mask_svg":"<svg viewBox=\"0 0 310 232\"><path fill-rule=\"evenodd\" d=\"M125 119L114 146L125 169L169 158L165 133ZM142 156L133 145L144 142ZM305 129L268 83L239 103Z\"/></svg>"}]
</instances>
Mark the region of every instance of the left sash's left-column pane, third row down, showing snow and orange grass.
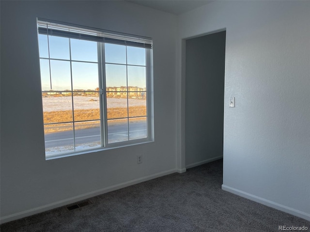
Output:
<instances>
[{"instance_id":1,"label":"left sash's left-column pane, third row down, showing snow and orange grass","mask_svg":"<svg viewBox=\"0 0 310 232\"><path fill-rule=\"evenodd\" d=\"M42 95L43 116L45 124L72 122L73 118L71 97L63 97L51 93L43 93Z\"/></svg>"}]
</instances>

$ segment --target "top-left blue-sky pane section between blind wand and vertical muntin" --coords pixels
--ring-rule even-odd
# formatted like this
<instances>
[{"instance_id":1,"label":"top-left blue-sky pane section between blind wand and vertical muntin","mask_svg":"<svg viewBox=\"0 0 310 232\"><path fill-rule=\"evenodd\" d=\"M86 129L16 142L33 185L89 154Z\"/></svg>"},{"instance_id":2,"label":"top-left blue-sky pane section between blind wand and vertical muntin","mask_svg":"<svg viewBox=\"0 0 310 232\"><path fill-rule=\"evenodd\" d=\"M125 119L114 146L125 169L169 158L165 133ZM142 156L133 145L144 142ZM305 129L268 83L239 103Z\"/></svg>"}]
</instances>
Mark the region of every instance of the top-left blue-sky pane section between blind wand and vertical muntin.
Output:
<instances>
[{"instance_id":1,"label":"top-left blue-sky pane section between blind wand and vertical muntin","mask_svg":"<svg viewBox=\"0 0 310 232\"><path fill-rule=\"evenodd\" d=\"M48 36L49 56L54 59L69 59L69 39L59 36Z\"/></svg>"}]
</instances>

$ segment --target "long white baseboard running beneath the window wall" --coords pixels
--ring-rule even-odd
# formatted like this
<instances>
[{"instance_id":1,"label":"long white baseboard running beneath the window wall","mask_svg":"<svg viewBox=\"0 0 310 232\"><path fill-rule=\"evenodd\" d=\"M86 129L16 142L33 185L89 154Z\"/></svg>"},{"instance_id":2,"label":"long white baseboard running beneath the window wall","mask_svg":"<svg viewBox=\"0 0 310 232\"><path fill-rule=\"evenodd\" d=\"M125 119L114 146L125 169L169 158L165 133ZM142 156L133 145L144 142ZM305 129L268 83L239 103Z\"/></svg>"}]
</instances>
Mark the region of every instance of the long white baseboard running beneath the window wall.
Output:
<instances>
[{"instance_id":1,"label":"long white baseboard running beneath the window wall","mask_svg":"<svg viewBox=\"0 0 310 232\"><path fill-rule=\"evenodd\" d=\"M117 190L117 189L120 189L120 188L125 188L125 187L131 186L131 185L139 184L139 183L144 182L144 181L148 181L148 180L151 180L151 179L155 179L157 177L161 177L161 176L164 176L164 175L169 175L169 174L176 173L176 172L179 172L179 170L171 169L171 170L160 172L160 173L157 173L157 174L152 174L152 175L144 176L144 177L141 177L141 178L138 178L138 179L130 180L130 181L127 181L127 182L124 182L124 183L121 183L121 184L113 185L113 186L110 186L110 187L107 187L107 188L101 188L101 189L98 189L98 190L95 190L95 191L92 191L92 192L88 192L88 193L81 194L81 195L78 195L78 196L75 196L75 197L64 199L62 201L58 201L58 202L42 205L42 206L39 206L39 207L36 207L36 208L33 208L33 209L29 209L29 210L25 210L25 211L18 212L18 213L15 213L15 214L11 214L11 215L8 215L8 216L0 217L0 224L5 223L5 222L9 222L9 221L13 221L13 220L16 220L16 219L19 219L19 218L23 218L23 217L28 217L28 216L31 216L31 215L34 215L34 214L42 213L44 211L55 209L55 208L58 208L58 207L62 207L62 206L68 205L68 204L72 204L72 203L76 203L76 202L79 202L79 201L83 201L83 200L86 200L86 199L94 197L94 196L98 196L98 195L101 195L101 194L104 194L104 193L107 193L107 192L111 192L111 191L114 191L114 190Z\"/></svg>"}]
</instances>

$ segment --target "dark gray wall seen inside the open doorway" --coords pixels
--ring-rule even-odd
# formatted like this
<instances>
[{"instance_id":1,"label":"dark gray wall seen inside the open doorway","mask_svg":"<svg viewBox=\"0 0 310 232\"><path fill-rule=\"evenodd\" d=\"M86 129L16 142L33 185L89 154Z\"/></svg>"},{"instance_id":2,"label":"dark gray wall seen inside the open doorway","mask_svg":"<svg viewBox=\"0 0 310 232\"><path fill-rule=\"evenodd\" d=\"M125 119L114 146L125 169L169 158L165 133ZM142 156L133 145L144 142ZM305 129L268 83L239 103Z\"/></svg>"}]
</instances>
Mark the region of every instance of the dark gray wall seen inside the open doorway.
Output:
<instances>
[{"instance_id":1,"label":"dark gray wall seen inside the open doorway","mask_svg":"<svg viewBox=\"0 0 310 232\"><path fill-rule=\"evenodd\" d=\"M186 168L223 157L225 35L186 40Z\"/></svg>"}]
</instances>

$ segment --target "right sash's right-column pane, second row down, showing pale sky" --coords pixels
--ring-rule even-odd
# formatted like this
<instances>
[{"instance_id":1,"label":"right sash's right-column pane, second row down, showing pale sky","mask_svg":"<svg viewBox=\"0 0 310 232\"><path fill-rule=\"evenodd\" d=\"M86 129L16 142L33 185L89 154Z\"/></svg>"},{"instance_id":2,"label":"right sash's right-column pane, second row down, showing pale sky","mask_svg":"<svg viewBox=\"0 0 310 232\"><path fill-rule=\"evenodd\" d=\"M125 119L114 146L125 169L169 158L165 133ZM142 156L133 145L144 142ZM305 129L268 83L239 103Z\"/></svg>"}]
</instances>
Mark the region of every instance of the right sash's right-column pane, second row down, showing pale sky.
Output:
<instances>
[{"instance_id":1,"label":"right sash's right-column pane, second row down, showing pale sky","mask_svg":"<svg viewBox=\"0 0 310 232\"><path fill-rule=\"evenodd\" d=\"M146 87L146 69L140 66L128 66L128 87Z\"/></svg>"}]
</instances>

